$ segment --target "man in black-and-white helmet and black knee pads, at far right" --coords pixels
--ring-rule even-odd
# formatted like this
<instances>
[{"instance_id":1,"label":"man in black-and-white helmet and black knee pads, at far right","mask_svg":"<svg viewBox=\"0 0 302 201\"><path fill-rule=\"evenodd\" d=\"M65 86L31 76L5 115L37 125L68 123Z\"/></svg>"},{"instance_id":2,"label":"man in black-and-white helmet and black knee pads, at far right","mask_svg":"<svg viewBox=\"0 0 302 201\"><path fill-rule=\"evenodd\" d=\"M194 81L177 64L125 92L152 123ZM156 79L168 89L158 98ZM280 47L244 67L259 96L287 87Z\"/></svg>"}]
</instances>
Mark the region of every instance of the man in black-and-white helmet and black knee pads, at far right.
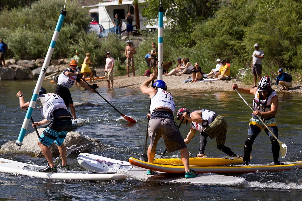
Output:
<instances>
[{"instance_id":1,"label":"man in black-and-white helmet and black knee pads, at far right","mask_svg":"<svg viewBox=\"0 0 302 201\"><path fill-rule=\"evenodd\" d=\"M255 138L259 135L263 129L263 123L258 119L257 115L264 121L268 128L278 138L278 127L275 119L275 115L278 110L278 96L274 89L271 88L271 78L269 76L262 77L258 82L258 87L239 88L237 84L232 86L232 89L242 92L244 94L254 95L253 99L253 113L249 120L249 130L246 142L244 145L243 165L249 164L250 154L252 152L252 145ZM284 163L278 161L280 146L275 137L268 132L268 129L264 129L269 139L271 140L271 151L273 152L274 163L276 165L284 165Z\"/></svg>"}]
</instances>

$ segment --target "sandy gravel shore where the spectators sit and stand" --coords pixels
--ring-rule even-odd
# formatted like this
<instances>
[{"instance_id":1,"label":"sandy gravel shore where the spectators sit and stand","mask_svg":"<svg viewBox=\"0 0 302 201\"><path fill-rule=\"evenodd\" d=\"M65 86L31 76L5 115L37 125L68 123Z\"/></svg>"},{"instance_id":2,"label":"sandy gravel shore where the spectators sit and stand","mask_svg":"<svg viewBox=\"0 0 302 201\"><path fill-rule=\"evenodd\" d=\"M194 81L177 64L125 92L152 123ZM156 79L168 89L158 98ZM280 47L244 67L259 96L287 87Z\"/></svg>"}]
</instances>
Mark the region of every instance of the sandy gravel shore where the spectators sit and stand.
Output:
<instances>
[{"instance_id":1,"label":"sandy gravel shore where the spectators sit and stand","mask_svg":"<svg viewBox=\"0 0 302 201\"><path fill-rule=\"evenodd\" d=\"M229 81L201 81L197 83L183 83L182 81L186 80L189 75L171 75L163 76L163 81L166 82L168 90L167 91L233 91L232 85L236 83L240 88L251 88L252 83L249 85L244 84L243 82L232 79ZM125 77L119 76L114 77L114 88L136 88L139 89L140 85L147 80L146 76L135 76L135 77ZM251 78L252 80L252 78ZM107 81L104 79L95 80L95 83L99 87L107 88ZM284 93L296 92L301 93L302 87L301 82L294 83L293 86L288 91L280 91ZM279 91L280 85L276 86L273 82L272 88L276 91Z\"/></svg>"}]
</instances>

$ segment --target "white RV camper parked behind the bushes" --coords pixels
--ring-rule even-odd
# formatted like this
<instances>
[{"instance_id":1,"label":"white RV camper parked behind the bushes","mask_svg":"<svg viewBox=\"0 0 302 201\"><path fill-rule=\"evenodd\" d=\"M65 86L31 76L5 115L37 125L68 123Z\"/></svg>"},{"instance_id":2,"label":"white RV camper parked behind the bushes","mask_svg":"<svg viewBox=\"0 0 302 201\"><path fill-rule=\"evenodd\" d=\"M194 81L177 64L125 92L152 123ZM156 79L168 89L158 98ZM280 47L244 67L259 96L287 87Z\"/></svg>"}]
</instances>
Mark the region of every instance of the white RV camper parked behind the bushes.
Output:
<instances>
[{"instance_id":1,"label":"white RV camper parked behind the bushes","mask_svg":"<svg viewBox=\"0 0 302 201\"><path fill-rule=\"evenodd\" d=\"M97 8L95 8L97 7ZM127 13L130 12L133 16L133 30L136 30L136 16L134 12L134 5L132 1L123 0L121 4L119 4L118 0L112 1L104 1L100 2L96 5L90 6L82 6L82 8L92 8L89 10L90 16L97 21L99 24L103 26L104 29L110 29L114 27L112 23L114 19L114 15L118 14L118 17L121 18L123 25L122 31L126 29L125 18L127 17ZM147 18L142 16L141 7L139 7L139 17L140 17L140 29L141 30L155 30L158 29L157 24L154 26L147 24Z\"/></svg>"}]
</instances>

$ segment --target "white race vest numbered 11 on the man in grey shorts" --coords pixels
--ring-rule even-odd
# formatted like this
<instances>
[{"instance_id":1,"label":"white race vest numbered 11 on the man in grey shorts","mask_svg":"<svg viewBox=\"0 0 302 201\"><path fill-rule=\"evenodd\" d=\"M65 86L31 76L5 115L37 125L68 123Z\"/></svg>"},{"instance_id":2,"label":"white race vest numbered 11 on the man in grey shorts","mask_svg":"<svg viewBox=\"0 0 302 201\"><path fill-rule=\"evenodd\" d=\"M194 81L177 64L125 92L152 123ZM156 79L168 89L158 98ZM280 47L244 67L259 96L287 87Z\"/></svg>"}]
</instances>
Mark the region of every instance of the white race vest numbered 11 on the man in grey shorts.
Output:
<instances>
[{"instance_id":1,"label":"white race vest numbered 11 on the man in grey shorts","mask_svg":"<svg viewBox=\"0 0 302 201\"><path fill-rule=\"evenodd\" d=\"M151 114L153 113L153 110L156 107L168 107L174 113L175 102L173 100L172 95L169 92L167 92L161 88L158 88L158 90L156 91L156 94L154 94L154 96L151 98L151 104L150 104L150 108L149 108Z\"/></svg>"}]
</instances>

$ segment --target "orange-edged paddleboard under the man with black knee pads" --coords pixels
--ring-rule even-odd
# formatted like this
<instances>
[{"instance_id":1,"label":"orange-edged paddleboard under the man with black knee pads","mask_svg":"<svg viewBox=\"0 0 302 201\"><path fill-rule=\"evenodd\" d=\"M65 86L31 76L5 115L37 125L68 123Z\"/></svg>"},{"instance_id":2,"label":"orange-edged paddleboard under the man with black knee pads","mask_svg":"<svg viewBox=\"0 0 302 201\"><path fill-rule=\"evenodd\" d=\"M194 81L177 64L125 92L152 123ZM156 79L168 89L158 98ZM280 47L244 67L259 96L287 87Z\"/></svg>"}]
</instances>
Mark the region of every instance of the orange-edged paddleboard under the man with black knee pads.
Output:
<instances>
[{"instance_id":1,"label":"orange-edged paddleboard under the man with black knee pads","mask_svg":"<svg viewBox=\"0 0 302 201\"><path fill-rule=\"evenodd\" d=\"M137 168L145 170L153 170L159 172L167 173L185 173L185 168L183 165L165 165L165 164L154 164L148 163L145 161L140 161L136 158L129 158L129 163ZM292 170L294 168L302 168L302 161L296 161L292 163L285 163L284 165L249 165L249 166L195 166L190 165L190 169L194 170L197 173L247 173L247 172L256 172L256 171L283 171L283 170Z\"/></svg>"}]
</instances>

